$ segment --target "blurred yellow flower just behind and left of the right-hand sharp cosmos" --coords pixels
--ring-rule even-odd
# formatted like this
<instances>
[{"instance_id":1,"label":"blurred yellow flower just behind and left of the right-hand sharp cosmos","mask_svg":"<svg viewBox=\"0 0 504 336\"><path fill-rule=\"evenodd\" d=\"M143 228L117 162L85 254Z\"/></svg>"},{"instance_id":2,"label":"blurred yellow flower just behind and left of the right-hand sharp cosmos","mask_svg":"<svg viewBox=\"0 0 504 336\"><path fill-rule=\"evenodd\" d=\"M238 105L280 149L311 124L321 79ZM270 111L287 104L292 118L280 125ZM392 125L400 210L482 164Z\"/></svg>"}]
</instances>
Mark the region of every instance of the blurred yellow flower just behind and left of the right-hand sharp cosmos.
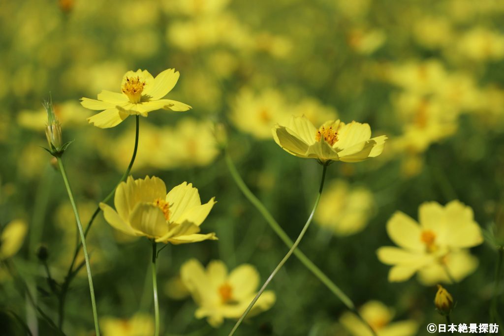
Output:
<instances>
[{"instance_id":1,"label":"blurred yellow flower just behind and left of the right-hand sharp cosmos","mask_svg":"<svg viewBox=\"0 0 504 336\"><path fill-rule=\"evenodd\" d=\"M259 94L247 88L242 89L231 105L233 124L241 131L261 140L270 139L271 127L288 116L285 97L273 89Z\"/></svg>"}]
</instances>

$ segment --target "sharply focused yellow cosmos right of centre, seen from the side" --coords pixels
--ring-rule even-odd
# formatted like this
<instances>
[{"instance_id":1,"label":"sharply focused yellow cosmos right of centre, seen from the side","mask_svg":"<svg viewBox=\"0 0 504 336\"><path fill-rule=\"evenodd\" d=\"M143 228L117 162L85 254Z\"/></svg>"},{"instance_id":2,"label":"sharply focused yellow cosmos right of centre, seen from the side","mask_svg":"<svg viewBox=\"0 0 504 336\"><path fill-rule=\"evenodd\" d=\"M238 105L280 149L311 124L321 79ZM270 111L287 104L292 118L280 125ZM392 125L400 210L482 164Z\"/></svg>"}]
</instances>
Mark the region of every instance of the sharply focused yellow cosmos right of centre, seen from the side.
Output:
<instances>
[{"instance_id":1,"label":"sharply focused yellow cosmos right of centre, seen from the side","mask_svg":"<svg viewBox=\"0 0 504 336\"><path fill-rule=\"evenodd\" d=\"M386 136L371 139L367 123L326 121L317 129L305 116L292 116L287 126L273 127L275 142L300 158L359 162L382 154Z\"/></svg>"}]
</instances>

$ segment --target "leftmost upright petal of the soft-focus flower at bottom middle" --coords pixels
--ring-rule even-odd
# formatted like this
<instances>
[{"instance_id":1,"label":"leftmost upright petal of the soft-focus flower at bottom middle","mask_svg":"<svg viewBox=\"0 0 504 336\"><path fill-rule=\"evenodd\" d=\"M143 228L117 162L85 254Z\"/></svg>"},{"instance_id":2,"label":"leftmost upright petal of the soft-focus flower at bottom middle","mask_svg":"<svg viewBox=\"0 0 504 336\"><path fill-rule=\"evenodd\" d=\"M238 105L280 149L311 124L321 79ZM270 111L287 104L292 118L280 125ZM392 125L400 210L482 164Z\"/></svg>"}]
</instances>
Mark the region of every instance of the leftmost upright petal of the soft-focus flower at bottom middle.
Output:
<instances>
[{"instance_id":1,"label":"leftmost upright petal of the soft-focus flower at bottom middle","mask_svg":"<svg viewBox=\"0 0 504 336\"><path fill-rule=\"evenodd\" d=\"M180 280L198 304L212 289L205 268L196 259L190 259L180 267Z\"/></svg>"}]
</instances>

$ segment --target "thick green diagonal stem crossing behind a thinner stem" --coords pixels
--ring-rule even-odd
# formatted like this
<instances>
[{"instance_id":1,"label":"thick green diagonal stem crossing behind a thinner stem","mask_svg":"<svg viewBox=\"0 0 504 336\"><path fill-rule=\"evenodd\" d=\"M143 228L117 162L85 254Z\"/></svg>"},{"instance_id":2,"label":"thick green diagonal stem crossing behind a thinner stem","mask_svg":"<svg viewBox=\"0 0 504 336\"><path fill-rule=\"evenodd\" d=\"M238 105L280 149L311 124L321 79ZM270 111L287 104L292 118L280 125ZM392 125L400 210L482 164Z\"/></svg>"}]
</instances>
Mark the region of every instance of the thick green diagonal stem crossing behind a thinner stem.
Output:
<instances>
[{"instance_id":1,"label":"thick green diagonal stem crossing behind a thinner stem","mask_svg":"<svg viewBox=\"0 0 504 336\"><path fill-rule=\"evenodd\" d=\"M228 152L224 152L224 159L226 161L227 168L229 172L231 173L231 176L233 177L234 182L238 186L238 188L241 190L243 195L250 201L252 205L256 207L256 209L263 215L264 219L266 222L270 225L270 227L275 231L275 233L278 235L278 237L284 242L284 244L288 247L291 248L294 242L292 239L289 238L287 233L282 229L282 227L278 224L278 222L273 218L273 216L270 214L268 209L261 203L259 198L254 195L252 191L247 187L243 179L241 178L240 174L238 173L238 170L236 169L236 166L233 163L233 160L229 156ZM354 303L352 300L331 280L329 277L322 272L322 270L314 264L300 249L295 249L294 250L294 255L301 261L301 263L308 268L308 270L316 276L326 287L334 294L338 299L343 302L343 304L353 312L357 317L368 326L370 331L372 332L373 335L376 335L374 330L369 326L369 323L367 323L364 318L360 315L359 311L355 308Z\"/></svg>"}]
</instances>

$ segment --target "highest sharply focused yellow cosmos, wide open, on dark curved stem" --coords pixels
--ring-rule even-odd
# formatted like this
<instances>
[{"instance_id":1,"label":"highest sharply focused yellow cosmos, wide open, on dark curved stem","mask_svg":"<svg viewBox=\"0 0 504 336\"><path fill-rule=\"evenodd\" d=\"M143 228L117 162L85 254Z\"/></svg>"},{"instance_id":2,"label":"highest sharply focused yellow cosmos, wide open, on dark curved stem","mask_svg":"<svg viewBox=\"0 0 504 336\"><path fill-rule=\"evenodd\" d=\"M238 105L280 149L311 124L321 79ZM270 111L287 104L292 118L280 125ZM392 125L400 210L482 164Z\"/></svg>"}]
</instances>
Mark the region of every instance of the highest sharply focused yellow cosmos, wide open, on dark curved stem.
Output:
<instances>
[{"instance_id":1,"label":"highest sharply focused yellow cosmos, wide open, on dark curved stem","mask_svg":"<svg viewBox=\"0 0 504 336\"><path fill-rule=\"evenodd\" d=\"M174 69L167 69L156 78L147 70L129 71L122 77L121 93L102 90L98 100L81 98L81 104L91 110L103 110L88 118L100 128L116 126L130 115L146 117L149 112L159 109L187 111L191 106L161 99L173 89L178 77L179 73Z\"/></svg>"}]
</instances>

